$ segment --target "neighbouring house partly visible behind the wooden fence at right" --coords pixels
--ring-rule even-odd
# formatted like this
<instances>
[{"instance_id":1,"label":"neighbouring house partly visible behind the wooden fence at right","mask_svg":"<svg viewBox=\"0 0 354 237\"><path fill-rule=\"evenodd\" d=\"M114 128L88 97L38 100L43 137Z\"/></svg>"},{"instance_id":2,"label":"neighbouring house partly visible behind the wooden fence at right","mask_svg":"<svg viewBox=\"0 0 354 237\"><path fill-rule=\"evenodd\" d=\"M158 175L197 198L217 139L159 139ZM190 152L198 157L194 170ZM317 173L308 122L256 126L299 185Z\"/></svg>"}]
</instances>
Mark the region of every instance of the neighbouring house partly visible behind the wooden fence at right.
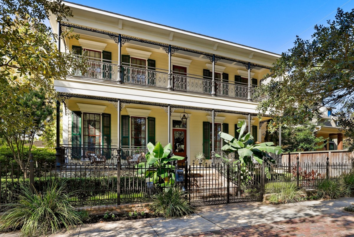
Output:
<instances>
[{"instance_id":1,"label":"neighbouring house partly visible behind the wooden fence at right","mask_svg":"<svg viewBox=\"0 0 354 237\"><path fill-rule=\"evenodd\" d=\"M314 123L319 125L316 129L317 136L324 137L324 146L323 150L342 150L343 149L343 133L341 128L337 126L338 117L333 114L333 111L336 108L334 107L321 107L320 114L317 120L314 120Z\"/></svg>"}]
</instances>

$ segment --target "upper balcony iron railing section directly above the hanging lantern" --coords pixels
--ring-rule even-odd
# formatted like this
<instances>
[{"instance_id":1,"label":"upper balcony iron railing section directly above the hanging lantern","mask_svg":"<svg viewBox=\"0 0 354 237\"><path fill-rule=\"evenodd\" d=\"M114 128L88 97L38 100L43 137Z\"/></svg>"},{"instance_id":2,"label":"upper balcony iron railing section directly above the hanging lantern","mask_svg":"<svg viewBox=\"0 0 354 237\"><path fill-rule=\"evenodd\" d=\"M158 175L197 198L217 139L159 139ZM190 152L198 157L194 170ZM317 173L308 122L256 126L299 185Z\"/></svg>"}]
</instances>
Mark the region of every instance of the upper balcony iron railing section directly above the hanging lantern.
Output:
<instances>
[{"instance_id":1,"label":"upper balcony iron railing section directly above the hanging lantern","mask_svg":"<svg viewBox=\"0 0 354 237\"><path fill-rule=\"evenodd\" d=\"M173 89L178 91L190 91L201 94L209 94L211 92L211 80L189 77L184 75L172 75Z\"/></svg>"}]
</instances>

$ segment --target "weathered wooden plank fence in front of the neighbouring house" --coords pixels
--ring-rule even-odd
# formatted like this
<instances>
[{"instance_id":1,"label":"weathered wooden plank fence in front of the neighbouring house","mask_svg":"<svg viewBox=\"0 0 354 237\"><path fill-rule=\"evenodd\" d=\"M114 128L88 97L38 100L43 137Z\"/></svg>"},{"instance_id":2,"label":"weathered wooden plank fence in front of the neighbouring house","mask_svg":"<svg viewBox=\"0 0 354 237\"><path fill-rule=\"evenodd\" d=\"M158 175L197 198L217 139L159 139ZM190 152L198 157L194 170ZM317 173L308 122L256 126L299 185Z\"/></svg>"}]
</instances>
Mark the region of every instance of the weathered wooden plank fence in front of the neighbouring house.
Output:
<instances>
[{"instance_id":1,"label":"weathered wooden plank fence in front of the neighbouring house","mask_svg":"<svg viewBox=\"0 0 354 237\"><path fill-rule=\"evenodd\" d=\"M297 157L302 163L324 163L327 157L330 163L351 163L354 160L354 152L334 150L283 153L281 163L296 163Z\"/></svg>"}]
</instances>

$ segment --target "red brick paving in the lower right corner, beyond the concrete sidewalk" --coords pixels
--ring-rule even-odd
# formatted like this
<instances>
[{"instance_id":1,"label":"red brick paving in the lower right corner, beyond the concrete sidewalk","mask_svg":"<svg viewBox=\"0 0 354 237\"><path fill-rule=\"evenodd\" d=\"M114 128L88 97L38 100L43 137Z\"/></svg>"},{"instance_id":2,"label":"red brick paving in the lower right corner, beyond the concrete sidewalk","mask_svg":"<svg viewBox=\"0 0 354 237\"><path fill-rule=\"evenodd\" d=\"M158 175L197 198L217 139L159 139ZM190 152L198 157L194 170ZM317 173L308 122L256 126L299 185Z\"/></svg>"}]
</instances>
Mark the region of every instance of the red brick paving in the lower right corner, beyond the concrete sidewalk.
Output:
<instances>
[{"instance_id":1,"label":"red brick paving in the lower right corner, beyond the concrete sidewalk","mask_svg":"<svg viewBox=\"0 0 354 237\"><path fill-rule=\"evenodd\" d=\"M232 221L232 220L230 220ZM195 233L189 236L354 236L354 214L332 214Z\"/></svg>"}]
</instances>

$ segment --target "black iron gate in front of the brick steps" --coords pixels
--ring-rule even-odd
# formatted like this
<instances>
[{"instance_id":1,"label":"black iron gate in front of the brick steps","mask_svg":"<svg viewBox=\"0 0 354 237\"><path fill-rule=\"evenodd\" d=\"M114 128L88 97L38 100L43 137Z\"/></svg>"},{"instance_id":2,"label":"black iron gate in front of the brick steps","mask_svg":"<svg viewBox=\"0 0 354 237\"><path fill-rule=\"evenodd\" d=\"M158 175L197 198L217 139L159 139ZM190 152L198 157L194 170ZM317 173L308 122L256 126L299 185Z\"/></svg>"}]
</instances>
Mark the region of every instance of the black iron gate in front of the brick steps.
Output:
<instances>
[{"instance_id":1,"label":"black iron gate in front of the brick steps","mask_svg":"<svg viewBox=\"0 0 354 237\"><path fill-rule=\"evenodd\" d=\"M192 205L261 201L264 187L263 167L250 164L219 162L189 165L187 182L189 202Z\"/></svg>"}]
</instances>

